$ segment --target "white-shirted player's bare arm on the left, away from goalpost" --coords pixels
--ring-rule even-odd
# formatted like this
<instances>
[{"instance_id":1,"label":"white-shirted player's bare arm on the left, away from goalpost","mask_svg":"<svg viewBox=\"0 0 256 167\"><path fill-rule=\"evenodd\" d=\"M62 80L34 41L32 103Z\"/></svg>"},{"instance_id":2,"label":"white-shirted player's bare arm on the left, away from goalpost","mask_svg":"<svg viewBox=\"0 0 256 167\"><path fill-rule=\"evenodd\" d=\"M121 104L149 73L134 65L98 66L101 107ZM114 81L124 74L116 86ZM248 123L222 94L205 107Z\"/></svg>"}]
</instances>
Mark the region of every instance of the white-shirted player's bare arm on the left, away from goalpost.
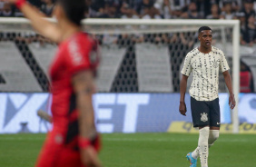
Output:
<instances>
[{"instance_id":1,"label":"white-shirted player's bare arm on the left, away from goalpost","mask_svg":"<svg viewBox=\"0 0 256 167\"><path fill-rule=\"evenodd\" d=\"M185 93L187 89L187 83L188 83L188 76L182 74L182 81L181 81L181 86L180 86L180 93L181 93L181 98L180 98L180 113L184 116L186 116L187 112L187 107L185 103Z\"/></svg>"}]
</instances>

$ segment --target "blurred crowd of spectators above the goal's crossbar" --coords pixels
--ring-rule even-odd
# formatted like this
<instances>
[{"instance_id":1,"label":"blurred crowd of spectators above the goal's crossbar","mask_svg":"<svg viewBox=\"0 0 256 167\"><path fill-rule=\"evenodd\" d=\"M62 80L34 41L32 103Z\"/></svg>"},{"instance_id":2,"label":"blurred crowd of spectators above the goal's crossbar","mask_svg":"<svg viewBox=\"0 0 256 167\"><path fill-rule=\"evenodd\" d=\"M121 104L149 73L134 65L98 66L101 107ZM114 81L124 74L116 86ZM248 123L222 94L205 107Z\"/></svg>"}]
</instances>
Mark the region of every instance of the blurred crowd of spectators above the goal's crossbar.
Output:
<instances>
[{"instance_id":1,"label":"blurred crowd of spectators above the goal's crossbar","mask_svg":"<svg viewBox=\"0 0 256 167\"><path fill-rule=\"evenodd\" d=\"M53 15L55 0L28 0L45 16ZM254 0L86 0L87 18L240 19L241 44L256 43ZM15 6L0 0L0 16L23 16Z\"/></svg>"}]
</instances>

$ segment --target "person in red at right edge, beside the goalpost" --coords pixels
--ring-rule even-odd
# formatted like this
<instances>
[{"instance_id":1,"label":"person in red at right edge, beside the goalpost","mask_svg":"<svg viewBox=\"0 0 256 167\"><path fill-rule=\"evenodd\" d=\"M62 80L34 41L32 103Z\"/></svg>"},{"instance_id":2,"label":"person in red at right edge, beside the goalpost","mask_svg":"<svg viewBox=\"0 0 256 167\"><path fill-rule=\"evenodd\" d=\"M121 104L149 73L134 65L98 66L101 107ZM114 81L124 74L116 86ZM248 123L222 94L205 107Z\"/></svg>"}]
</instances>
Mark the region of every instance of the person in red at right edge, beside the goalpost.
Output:
<instances>
[{"instance_id":1,"label":"person in red at right edge, beside the goalpost","mask_svg":"<svg viewBox=\"0 0 256 167\"><path fill-rule=\"evenodd\" d=\"M253 93L253 78L250 68L241 62L240 64L240 92L241 93Z\"/></svg>"}]
</instances>

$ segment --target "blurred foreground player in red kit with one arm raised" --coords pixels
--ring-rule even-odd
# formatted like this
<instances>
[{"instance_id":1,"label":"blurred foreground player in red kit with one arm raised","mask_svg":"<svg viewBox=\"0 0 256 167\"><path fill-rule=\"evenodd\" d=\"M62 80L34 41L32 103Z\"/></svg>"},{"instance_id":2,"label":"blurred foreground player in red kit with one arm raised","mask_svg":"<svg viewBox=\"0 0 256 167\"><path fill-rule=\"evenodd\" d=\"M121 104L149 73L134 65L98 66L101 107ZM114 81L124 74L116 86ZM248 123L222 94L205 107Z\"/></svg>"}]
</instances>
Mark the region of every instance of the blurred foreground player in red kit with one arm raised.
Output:
<instances>
[{"instance_id":1,"label":"blurred foreground player in red kit with one arm raised","mask_svg":"<svg viewBox=\"0 0 256 167\"><path fill-rule=\"evenodd\" d=\"M81 30L84 0L58 0L57 24L50 23L25 0L7 0L31 21L35 30L59 44L50 68L54 127L37 167L100 167L99 136L94 125L94 74L97 44Z\"/></svg>"}]
</instances>

